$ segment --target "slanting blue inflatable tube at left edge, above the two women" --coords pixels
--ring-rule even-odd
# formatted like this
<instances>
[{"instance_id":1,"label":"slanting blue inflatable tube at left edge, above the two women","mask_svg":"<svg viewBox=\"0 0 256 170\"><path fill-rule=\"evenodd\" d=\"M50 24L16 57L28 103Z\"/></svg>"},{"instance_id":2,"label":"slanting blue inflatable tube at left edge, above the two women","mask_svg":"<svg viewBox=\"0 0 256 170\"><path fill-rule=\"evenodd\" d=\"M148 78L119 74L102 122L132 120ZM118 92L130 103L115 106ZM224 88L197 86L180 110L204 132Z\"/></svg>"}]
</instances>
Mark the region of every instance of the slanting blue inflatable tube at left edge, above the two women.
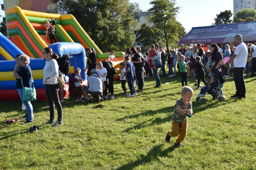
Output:
<instances>
[{"instance_id":1,"label":"slanting blue inflatable tube at left edge, above the two women","mask_svg":"<svg viewBox=\"0 0 256 170\"><path fill-rule=\"evenodd\" d=\"M24 54L16 45L14 45L8 38L6 38L2 33L0 33L0 46L9 53L13 59L16 55ZM2 55L0 56L1 60L6 60Z\"/></svg>"}]
</instances>

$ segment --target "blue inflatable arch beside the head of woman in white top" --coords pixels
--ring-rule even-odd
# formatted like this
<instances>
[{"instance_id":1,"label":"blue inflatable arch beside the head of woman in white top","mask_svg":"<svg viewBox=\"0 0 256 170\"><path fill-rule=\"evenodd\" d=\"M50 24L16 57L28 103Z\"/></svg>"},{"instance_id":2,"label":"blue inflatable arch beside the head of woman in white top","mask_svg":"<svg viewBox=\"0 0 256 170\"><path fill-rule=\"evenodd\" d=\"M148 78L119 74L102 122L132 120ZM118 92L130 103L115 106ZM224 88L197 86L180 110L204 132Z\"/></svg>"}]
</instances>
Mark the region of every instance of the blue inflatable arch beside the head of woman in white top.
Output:
<instances>
[{"instance_id":1,"label":"blue inflatable arch beside the head of woman in white top","mask_svg":"<svg viewBox=\"0 0 256 170\"><path fill-rule=\"evenodd\" d=\"M49 47L59 56L64 54L72 55L75 69L80 68L82 79L87 79L87 75L84 72L86 68L86 52L81 44L75 42L57 42L51 44Z\"/></svg>"}]
</instances>

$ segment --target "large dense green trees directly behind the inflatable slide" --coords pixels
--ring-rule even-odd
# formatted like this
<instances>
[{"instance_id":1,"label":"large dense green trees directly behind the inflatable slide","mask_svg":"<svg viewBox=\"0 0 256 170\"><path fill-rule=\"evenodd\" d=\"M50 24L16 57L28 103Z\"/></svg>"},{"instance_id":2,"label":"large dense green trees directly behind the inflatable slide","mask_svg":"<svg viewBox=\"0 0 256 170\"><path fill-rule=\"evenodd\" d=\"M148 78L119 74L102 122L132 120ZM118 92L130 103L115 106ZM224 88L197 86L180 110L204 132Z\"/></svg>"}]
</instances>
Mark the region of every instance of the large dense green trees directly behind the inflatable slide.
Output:
<instances>
[{"instance_id":1,"label":"large dense green trees directly behind the inflatable slide","mask_svg":"<svg viewBox=\"0 0 256 170\"><path fill-rule=\"evenodd\" d=\"M135 42L140 13L128 0L53 0L61 14L72 14L102 52L124 51Z\"/></svg>"}]
</instances>

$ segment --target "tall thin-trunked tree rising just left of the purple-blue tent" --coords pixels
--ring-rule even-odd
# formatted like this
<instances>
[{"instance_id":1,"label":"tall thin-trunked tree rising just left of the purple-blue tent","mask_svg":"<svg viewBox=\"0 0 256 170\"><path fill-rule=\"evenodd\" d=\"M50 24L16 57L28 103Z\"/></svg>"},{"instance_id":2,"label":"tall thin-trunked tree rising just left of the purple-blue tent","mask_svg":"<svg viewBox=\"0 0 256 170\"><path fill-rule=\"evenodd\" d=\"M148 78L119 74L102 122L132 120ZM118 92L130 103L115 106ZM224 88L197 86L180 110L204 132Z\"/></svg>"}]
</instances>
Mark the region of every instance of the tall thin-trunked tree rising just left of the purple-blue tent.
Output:
<instances>
[{"instance_id":1,"label":"tall thin-trunked tree rising just left of the purple-blue tent","mask_svg":"<svg viewBox=\"0 0 256 170\"><path fill-rule=\"evenodd\" d=\"M175 7L175 0L152 0L152 8L148 9L149 21L154 24L154 28L159 30L160 37L165 40L167 52L169 52L169 37L175 34L176 28L173 26L179 7Z\"/></svg>"}]
</instances>

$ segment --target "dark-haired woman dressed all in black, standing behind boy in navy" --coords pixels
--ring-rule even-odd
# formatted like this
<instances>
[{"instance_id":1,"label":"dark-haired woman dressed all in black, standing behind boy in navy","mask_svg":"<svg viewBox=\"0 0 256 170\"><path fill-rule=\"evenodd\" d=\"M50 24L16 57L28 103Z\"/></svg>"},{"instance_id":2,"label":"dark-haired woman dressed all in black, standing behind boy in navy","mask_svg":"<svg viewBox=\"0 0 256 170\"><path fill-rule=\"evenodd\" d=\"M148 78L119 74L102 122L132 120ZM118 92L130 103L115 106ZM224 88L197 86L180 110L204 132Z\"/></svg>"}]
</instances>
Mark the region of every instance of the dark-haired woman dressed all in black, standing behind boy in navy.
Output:
<instances>
[{"instance_id":1,"label":"dark-haired woman dressed all in black, standing behind boy in navy","mask_svg":"<svg viewBox=\"0 0 256 170\"><path fill-rule=\"evenodd\" d=\"M131 63L133 63L135 67L135 76L136 79L138 80L138 90L136 91L136 93L140 93L143 92L144 85L141 55L137 52L135 47L131 48L131 54L133 55L133 57L131 58Z\"/></svg>"}]
</instances>

